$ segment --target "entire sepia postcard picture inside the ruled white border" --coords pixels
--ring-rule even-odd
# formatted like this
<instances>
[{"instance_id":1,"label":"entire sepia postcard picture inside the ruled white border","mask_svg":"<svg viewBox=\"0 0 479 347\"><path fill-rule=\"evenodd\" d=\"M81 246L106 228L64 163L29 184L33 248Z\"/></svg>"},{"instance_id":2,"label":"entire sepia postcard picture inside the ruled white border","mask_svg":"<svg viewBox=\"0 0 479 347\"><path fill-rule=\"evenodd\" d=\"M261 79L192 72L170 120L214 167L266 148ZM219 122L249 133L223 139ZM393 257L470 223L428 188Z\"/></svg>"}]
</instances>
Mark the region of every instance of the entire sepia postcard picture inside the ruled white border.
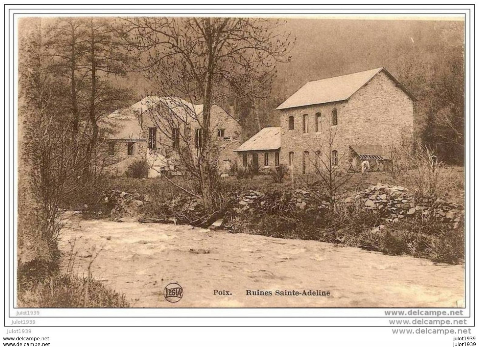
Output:
<instances>
[{"instance_id":1,"label":"entire sepia postcard picture inside the ruled white border","mask_svg":"<svg viewBox=\"0 0 479 347\"><path fill-rule=\"evenodd\" d=\"M16 30L15 308L466 307L464 16Z\"/></svg>"}]
</instances>

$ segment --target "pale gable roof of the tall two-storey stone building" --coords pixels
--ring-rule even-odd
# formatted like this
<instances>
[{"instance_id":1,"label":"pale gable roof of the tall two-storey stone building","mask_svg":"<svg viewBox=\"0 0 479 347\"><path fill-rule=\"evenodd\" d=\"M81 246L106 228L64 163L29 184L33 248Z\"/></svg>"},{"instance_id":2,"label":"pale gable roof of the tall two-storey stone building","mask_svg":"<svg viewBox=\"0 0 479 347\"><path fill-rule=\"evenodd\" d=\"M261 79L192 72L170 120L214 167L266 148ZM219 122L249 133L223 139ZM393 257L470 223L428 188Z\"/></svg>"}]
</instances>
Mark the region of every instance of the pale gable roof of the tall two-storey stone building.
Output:
<instances>
[{"instance_id":1,"label":"pale gable roof of the tall two-storey stone building","mask_svg":"<svg viewBox=\"0 0 479 347\"><path fill-rule=\"evenodd\" d=\"M361 89L381 71L384 71L401 90L414 100L411 93L409 93L409 91L407 91L396 80L396 78L388 72L388 70L384 67L378 67L372 70L356 72L349 75L308 82L297 90L296 93L286 99L285 102L279 105L276 110L348 100L356 91Z\"/></svg>"}]
</instances>

